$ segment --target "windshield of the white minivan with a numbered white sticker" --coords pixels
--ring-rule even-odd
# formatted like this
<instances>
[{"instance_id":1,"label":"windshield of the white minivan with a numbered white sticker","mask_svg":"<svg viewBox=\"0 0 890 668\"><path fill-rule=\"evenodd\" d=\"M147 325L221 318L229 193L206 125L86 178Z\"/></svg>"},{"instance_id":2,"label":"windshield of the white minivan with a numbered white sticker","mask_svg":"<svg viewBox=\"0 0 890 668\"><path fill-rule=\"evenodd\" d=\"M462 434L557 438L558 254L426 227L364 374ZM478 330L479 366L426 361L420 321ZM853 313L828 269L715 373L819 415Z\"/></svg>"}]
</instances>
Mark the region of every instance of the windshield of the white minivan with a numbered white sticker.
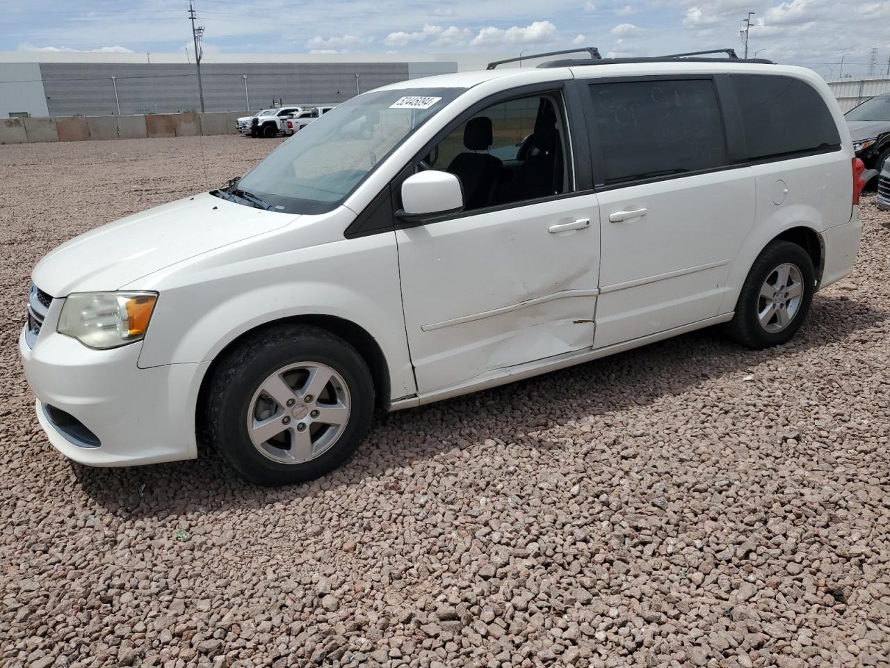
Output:
<instances>
[{"instance_id":1,"label":"windshield of the white minivan with a numbered white sticker","mask_svg":"<svg viewBox=\"0 0 890 668\"><path fill-rule=\"evenodd\" d=\"M238 188L278 211L330 211L409 134L463 92L423 88L358 95L282 143Z\"/></svg>"}]
</instances>

